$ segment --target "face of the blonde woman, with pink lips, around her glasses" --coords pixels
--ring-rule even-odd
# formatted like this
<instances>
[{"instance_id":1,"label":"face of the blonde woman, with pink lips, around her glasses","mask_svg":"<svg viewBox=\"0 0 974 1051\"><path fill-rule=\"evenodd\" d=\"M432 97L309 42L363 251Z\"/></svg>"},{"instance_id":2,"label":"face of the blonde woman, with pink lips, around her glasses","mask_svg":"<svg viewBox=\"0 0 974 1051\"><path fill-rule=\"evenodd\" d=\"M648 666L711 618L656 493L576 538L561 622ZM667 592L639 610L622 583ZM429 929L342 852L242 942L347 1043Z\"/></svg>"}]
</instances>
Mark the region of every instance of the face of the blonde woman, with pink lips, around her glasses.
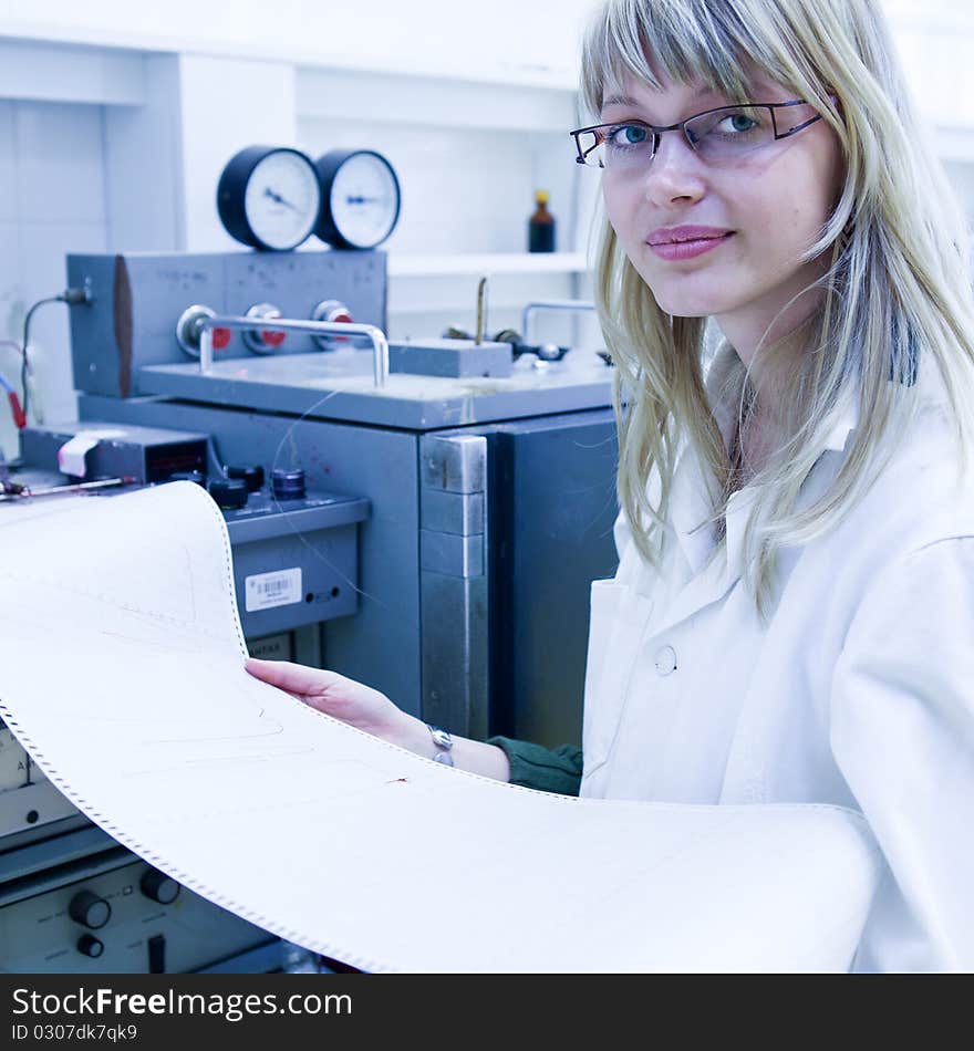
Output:
<instances>
[{"instance_id":1,"label":"face of the blonde woman, with pink lips, around her glasses","mask_svg":"<svg viewBox=\"0 0 974 1051\"><path fill-rule=\"evenodd\" d=\"M701 85L663 77L661 83L663 90L654 91L628 79L605 100L602 122L666 126L732 102ZM757 76L753 90L756 103L795 97ZM776 111L783 112L789 111ZM664 132L645 165L610 163L602 191L609 221L660 306L677 316L714 316L731 336L763 331L825 272L825 260L799 259L820 236L840 179L838 141L825 121L816 121L787 138L709 163L680 131ZM683 243L665 243L674 238Z\"/></svg>"}]
</instances>

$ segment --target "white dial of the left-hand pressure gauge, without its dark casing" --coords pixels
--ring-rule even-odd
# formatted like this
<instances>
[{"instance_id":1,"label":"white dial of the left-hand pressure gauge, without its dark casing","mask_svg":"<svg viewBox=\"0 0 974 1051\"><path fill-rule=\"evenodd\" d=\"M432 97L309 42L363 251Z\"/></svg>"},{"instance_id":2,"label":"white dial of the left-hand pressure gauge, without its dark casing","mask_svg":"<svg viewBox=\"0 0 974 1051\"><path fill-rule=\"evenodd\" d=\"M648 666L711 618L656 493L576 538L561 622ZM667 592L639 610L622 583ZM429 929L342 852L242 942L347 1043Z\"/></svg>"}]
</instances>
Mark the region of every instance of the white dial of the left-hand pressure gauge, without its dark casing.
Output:
<instances>
[{"instance_id":1,"label":"white dial of the left-hand pressure gauge, without its dark casing","mask_svg":"<svg viewBox=\"0 0 974 1051\"><path fill-rule=\"evenodd\" d=\"M255 238L267 248L297 248L314 230L321 189L314 165L290 149L268 153L255 165L244 194L244 211Z\"/></svg>"}]
</instances>

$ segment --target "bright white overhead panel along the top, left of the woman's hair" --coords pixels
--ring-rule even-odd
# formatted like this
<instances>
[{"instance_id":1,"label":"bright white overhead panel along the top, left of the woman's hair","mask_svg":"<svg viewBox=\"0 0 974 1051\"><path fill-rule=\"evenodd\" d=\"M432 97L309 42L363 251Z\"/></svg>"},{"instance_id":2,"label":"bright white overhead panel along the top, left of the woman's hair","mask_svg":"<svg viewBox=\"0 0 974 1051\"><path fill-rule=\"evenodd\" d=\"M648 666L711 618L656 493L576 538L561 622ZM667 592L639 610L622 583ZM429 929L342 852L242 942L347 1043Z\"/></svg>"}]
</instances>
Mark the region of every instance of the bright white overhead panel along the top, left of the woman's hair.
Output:
<instances>
[{"instance_id":1,"label":"bright white overhead panel along the top, left of the woman's hair","mask_svg":"<svg viewBox=\"0 0 974 1051\"><path fill-rule=\"evenodd\" d=\"M524 0L494 0L486 14L452 0L276 0L272 15L263 0L9 0L0 4L0 35L573 91L579 34L594 2L562 0L556 18Z\"/></svg>"}]
</instances>

